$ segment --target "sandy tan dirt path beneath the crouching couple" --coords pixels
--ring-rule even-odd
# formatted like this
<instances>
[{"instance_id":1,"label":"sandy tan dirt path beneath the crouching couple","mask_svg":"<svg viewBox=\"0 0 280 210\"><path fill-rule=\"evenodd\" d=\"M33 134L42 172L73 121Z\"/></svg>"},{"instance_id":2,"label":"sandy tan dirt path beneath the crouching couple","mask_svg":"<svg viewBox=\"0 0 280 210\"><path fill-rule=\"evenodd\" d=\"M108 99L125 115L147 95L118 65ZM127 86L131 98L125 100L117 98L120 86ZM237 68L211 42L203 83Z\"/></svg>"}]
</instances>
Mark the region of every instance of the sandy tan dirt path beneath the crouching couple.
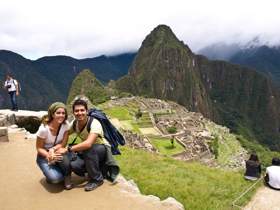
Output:
<instances>
[{"instance_id":1,"label":"sandy tan dirt path beneath the crouching couple","mask_svg":"<svg viewBox=\"0 0 280 210\"><path fill-rule=\"evenodd\" d=\"M75 187L48 184L36 164L35 139L24 132L9 132L10 142L0 143L1 209L182 209L178 203L143 196L118 179L111 186L105 180L96 190L85 192L88 178L72 176Z\"/></svg>"}]
</instances>

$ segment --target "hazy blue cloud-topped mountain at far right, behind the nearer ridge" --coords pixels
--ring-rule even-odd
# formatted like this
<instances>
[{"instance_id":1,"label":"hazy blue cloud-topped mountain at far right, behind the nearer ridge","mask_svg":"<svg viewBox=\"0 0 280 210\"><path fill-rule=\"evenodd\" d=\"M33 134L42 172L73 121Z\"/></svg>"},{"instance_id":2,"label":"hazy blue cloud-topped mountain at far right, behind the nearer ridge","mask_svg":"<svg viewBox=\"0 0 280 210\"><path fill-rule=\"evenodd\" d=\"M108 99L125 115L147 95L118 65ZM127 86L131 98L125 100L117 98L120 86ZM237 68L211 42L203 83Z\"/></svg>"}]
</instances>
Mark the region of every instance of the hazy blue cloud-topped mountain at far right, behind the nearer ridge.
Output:
<instances>
[{"instance_id":1,"label":"hazy blue cloud-topped mountain at far right, behind the nearer ridge","mask_svg":"<svg viewBox=\"0 0 280 210\"><path fill-rule=\"evenodd\" d=\"M229 62L249 66L266 74L280 88L280 50L278 47L259 46L239 50Z\"/></svg>"}]
</instances>

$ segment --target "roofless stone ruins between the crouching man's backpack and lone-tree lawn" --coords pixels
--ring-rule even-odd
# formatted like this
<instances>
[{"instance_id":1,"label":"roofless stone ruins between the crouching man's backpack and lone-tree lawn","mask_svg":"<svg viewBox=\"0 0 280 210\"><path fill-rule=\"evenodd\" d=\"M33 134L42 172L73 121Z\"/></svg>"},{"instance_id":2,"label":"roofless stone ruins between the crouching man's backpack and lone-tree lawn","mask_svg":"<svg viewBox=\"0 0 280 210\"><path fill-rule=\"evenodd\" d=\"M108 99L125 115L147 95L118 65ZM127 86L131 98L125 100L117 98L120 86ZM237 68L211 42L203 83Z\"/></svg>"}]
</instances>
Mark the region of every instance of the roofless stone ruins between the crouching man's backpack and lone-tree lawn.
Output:
<instances>
[{"instance_id":1,"label":"roofless stone ruins between the crouching man's backpack and lone-tree lawn","mask_svg":"<svg viewBox=\"0 0 280 210\"><path fill-rule=\"evenodd\" d=\"M130 148L159 154L159 151L147 136L139 135L138 133L134 133L131 130L125 130L122 127L120 127L120 130L124 136L125 142Z\"/></svg>"}]
</instances>

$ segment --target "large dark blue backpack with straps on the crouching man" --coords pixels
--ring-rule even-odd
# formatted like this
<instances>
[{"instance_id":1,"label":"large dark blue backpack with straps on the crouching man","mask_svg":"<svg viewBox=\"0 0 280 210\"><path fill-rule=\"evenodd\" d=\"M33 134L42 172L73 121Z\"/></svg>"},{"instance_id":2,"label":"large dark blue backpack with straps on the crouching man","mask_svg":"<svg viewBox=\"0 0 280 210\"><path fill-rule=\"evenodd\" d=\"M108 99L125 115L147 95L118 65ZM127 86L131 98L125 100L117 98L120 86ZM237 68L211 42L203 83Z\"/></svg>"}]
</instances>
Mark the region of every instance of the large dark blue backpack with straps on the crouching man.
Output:
<instances>
[{"instance_id":1,"label":"large dark blue backpack with straps on the crouching man","mask_svg":"<svg viewBox=\"0 0 280 210\"><path fill-rule=\"evenodd\" d=\"M121 155L120 150L118 149L118 145L120 144L121 146L124 146L125 140L122 134L120 134L120 132L118 131L118 129L116 129L115 126L112 125L110 120L107 118L106 114L104 114L100 109L91 108L88 111L87 116L89 117L87 122L88 133L90 132L90 125L92 123L92 120L94 118L97 119L102 126L105 139L107 139L107 141L111 145L112 154ZM74 130L76 130L76 124L77 124L77 119L75 119L73 122ZM101 136L99 136L99 138L102 139Z\"/></svg>"}]
</instances>

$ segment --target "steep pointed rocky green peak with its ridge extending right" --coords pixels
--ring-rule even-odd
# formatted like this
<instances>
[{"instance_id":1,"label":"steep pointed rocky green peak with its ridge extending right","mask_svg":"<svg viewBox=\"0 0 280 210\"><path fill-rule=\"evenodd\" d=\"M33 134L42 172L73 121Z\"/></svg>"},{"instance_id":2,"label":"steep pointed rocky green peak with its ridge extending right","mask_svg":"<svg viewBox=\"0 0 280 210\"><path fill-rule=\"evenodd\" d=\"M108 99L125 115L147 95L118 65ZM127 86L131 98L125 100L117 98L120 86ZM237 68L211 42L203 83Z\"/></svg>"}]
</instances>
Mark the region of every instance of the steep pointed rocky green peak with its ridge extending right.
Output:
<instances>
[{"instance_id":1,"label":"steep pointed rocky green peak with its ridge extending right","mask_svg":"<svg viewBox=\"0 0 280 210\"><path fill-rule=\"evenodd\" d=\"M121 91L173 100L270 148L280 138L280 91L250 67L195 55L166 25L146 36Z\"/></svg>"}]
</instances>

